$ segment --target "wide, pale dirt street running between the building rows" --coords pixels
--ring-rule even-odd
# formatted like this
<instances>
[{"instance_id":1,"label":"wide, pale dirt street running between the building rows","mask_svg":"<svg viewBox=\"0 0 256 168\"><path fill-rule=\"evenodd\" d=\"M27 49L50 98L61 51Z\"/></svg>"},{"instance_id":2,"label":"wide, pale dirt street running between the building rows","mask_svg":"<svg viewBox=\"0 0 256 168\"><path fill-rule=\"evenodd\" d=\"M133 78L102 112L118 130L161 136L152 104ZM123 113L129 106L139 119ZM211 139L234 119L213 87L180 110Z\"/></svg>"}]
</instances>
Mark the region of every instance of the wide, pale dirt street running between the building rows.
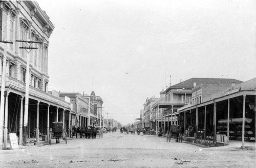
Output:
<instances>
[{"instance_id":1,"label":"wide, pale dirt street running between the building rows","mask_svg":"<svg viewBox=\"0 0 256 168\"><path fill-rule=\"evenodd\" d=\"M153 135L107 133L0 151L0 167L255 167L255 150L202 148Z\"/></svg>"}]
</instances>

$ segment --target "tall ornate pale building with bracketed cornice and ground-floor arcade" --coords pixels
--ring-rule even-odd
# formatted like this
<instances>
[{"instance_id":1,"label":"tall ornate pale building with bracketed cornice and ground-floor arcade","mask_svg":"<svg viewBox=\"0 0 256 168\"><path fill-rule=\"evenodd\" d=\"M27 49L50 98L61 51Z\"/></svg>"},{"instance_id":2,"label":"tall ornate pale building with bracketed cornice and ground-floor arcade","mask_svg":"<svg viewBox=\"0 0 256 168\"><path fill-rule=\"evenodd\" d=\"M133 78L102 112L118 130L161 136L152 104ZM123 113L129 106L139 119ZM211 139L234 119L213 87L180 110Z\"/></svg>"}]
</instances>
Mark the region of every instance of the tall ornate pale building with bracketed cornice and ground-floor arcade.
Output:
<instances>
[{"instance_id":1,"label":"tall ornate pale building with bracketed cornice and ground-floor arcade","mask_svg":"<svg viewBox=\"0 0 256 168\"><path fill-rule=\"evenodd\" d=\"M32 136L36 136L38 141L39 132L49 135L52 122L66 122L69 119L71 106L69 102L59 99L55 92L48 93L48 47L54 26L46 12L41 10L36 1L1 1L0 25L2 148L3 141L5 147L7 144L7 132L16 132L19 143L24 141L24 144L27 138ZM29 66L26 66L27 62ZM29 99L25 104L27 71ZM68 122L64 127L68 131ZM34 130L36 135L33 133Z\"/></svg>"}]
</instances>

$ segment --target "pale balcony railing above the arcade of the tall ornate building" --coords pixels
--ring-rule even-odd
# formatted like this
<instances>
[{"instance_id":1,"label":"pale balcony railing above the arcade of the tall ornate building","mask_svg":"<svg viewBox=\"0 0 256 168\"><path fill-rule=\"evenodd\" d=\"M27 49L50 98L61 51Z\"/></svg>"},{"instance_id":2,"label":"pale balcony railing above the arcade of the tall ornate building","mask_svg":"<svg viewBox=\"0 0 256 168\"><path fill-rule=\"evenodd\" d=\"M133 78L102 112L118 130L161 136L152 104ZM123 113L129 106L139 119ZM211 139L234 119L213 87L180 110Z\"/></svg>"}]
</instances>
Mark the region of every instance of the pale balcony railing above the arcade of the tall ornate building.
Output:
<instances>
[{"instance_id":1,"label":"pale balcony railing above the arcade of the tall ornate building","mask_svg":"<svg viewBox=\"0 0 256 168\"><path fill-rule=\"evenodd\" d=\"M17 91L25 93L25 83L12 77L8 77L7 81L8 85L11 88L14 88ZM29 95L70 109L70 103L62 99L59 99L50 93L41 91L33 86L29 86Z\"/></svg>"}]
</instances>

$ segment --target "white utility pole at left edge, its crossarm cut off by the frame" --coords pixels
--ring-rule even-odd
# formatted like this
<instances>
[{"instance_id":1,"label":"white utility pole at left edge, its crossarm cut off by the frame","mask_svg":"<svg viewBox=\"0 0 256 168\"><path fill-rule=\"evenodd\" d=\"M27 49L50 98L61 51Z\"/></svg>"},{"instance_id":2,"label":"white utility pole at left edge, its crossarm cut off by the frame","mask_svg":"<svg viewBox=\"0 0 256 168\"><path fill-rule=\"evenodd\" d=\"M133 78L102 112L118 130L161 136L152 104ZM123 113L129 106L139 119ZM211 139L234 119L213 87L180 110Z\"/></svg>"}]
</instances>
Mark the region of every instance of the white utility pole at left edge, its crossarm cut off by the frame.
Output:
<instances>
[{"instance_id":1,"label":"white utility pole at left edge, its crossarm cut off by the frame","mask_svg":"<svg viewBox=\"0 0 256 168\"><path fill-rule=\"evenodd\" d=\"M4 113L5 113L5 82L6 82L6 53L7 53L7 44L10 43L13 44L13 42L9 41L0 41L2 43L5 43L5 49L4 49L4 58L3 58L3 70L2 70L2 83L1 83L1 103L0 103L0 149L3 149L3 140L4 138L7 139L7 137L4 137ZM7 121L5 121L7 122Z\"/></svg>"}]
</instances>

